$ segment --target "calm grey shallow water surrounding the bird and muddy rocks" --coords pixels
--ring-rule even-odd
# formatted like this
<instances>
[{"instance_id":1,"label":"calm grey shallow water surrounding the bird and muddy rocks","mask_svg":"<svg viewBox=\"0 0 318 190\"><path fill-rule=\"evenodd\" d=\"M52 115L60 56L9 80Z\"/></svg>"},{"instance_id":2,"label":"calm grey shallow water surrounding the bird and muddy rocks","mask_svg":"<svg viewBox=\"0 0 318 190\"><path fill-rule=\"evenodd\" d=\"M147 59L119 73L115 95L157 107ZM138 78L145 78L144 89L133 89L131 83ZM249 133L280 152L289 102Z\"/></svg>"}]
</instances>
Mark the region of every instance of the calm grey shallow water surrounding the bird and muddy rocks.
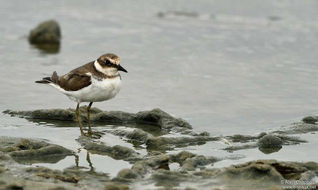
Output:
<instances>
[{"instance_id":1,"label":"calm grey shallow water surrounding the bird and muddy rocks","mask_svg":"<svg viewBox=\"0 0 318 190\"><path fill-rule=\"evenodd\" d=\"M135 113L160 108L211 135L259 134L318 114L316 0L0 3L1 111L75 108L76 103L65 95L34 81L115 53L128 73L121 73L123 85L116 98L93 104L101 110ZM46 53L26 39L30 29L51 18L62 30L57 53ZM80 134L76 122L28 121L2 114L0 120L1 135L44 138L74 151L81 148L75 141ZM113 127L107 125L114 124L96 123L94 127ZM116 127L138 128L137 124ZM247 158L214 166L260 158L317 161L317 151L304 152L316 149L317 134L301 138L310 143L284 146L270 155L258 149L235 151ZM110 134L101 140L147 154L144 148ZM233 154L214 149L225 146L209 142L169 153L188 149L203 155ZM90 170L87 152L80 150L78 165ZM114 176L119 171L109 170L104 162L130 168L124 161L89 155L95 172ZM44 165L76 166L72 156Z\"/></svg>"}]
</instances>

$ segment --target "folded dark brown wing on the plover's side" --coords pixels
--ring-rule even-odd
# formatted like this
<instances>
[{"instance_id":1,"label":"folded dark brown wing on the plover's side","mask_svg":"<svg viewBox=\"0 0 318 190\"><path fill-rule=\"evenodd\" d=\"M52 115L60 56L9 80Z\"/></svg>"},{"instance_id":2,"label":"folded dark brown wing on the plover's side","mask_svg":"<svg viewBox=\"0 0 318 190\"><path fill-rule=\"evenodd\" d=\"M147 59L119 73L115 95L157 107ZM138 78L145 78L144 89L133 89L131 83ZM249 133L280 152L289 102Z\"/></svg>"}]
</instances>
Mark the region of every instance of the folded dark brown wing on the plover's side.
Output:
<instances>
[{"instance_id":1,"label":"folded dark brown wing on the plover's side","mask_svg":"<svg viewBox=\"0 0 318 190\"><path fill-rule=\"evenodd\" d=\"M91 77L85 73L67 73L60 76L56 84L66 91L78 91L91 84Z\"/></svg>"}]
</instances>

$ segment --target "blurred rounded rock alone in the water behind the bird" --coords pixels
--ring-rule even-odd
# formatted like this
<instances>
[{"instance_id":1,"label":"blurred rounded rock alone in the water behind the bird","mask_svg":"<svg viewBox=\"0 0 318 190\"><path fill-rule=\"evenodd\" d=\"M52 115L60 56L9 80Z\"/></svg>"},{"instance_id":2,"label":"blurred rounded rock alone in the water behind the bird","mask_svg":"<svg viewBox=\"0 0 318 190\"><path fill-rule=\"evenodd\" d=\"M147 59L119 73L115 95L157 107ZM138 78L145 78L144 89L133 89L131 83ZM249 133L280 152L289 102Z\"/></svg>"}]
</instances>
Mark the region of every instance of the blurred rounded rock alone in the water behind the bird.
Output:
<instances>
[{"instance_id":1,"label":"blurred rounded rock alone in the water behind the bird","mask_svg":"<svg viewBox=\"0 0 318 190\"><path fill-rule=\"evenodd\" d=\"M40 23L31 30L29 42L32 44L59 44L61 39L61 30L58 22L49 20Z\"/></svg>"}]
</instances>

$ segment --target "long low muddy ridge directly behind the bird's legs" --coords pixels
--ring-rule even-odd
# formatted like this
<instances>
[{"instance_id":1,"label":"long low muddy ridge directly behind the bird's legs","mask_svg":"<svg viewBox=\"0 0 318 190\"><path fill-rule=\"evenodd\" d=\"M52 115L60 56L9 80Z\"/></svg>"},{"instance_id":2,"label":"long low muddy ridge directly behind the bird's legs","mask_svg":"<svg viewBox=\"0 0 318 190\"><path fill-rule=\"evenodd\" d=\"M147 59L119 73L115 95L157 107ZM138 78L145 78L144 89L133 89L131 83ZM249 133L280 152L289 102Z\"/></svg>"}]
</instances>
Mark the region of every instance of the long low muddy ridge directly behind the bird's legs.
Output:
<instances>
[{"instance_id":1,"label":"long low muddy ridge directly behind the bird's legs","mask_svg":"<svg viewBox=\"0 0 318 190\"><path fill-rule=\"evenodd\" d=\"M79 116L81 121L87 121L86 114L87 106L79 107ZM75 109L49 109L49 110L32 110L32 111L11 111L6 110L3 113L10 115L18 115L24 117L38 119L59 119L77 121ZM163 130L171 130L173 132L182 133L191 136L207 136L209 133L197 133L192 129L192 126L181 118L174 118L168 113L156 108L150 111L140 111L136 114L124 111L102 111L98 108L91 108L91 121L111 121L111 122L143 122L156 124Z\"/></svg>"}]
</instances>

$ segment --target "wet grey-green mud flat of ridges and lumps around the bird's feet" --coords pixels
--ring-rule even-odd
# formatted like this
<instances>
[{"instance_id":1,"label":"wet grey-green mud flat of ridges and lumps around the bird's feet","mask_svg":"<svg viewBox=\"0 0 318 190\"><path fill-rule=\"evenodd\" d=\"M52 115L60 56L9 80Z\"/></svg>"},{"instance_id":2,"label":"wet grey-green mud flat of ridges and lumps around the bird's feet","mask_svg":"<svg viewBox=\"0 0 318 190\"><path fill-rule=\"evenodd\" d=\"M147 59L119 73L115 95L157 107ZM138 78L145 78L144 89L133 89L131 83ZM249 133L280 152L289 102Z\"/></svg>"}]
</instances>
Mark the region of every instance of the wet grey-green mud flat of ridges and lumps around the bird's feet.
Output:
<instances>
[{"instance_id":1,"label":"wet grey-green mud flat of ridges and lumps around the bird's feet","mask_svg":"<svg viewBox=\"0 0 318 190\"><path fill-rule=\"evenodd\" d=\"M56 119L76 121L73 109L50 109L33 111L4 111L5 114L26 119ZM80 117L86 121L86 106L80 107ZM223 160L238 160L245 156L236 150L258 148L264 154L278 152L282 146L297 146L310 143L294 135L318 131L315 116L305 117L301 122L281 126L259 135L210 136L207 132L196 132L181 118L174 118L160 109L141 111L136 114L122 111L91 109L94 122L139 122L149 124L134 130L107 130L109 133L144 145L148 154L141 156L135 149L114 145L99 139L79 137L76 141L89 151L97 151L116 160L132 164L131 168L118 171L115 177L107 174L92 174L78 168L54 170L46 167L30 167L30 163L55 163L72 150L55 145L44 139L0 137L0 189L283 189L281 181L306 181L308 186L317 185L317 162L285 162L277 160L255 160L229 167L214 168L213 163ZM183 136L156 135L158 131L182 134ZM233 152L229 156L197 155L189 151L167 154L167 150L178 146L200 146L206 142L220 142L225 148L220 151ZM233 146L234 143L241 145ZM213 147L211 147L213 148ZM170 170L175 165L178 169ZM209 166L209 167L207 167ZM111 167L111 166L109 166ZM293 184L293 185L295 185ZM297 184L296 184L297 185ZM293 188L291 188L293 189Z\"/></svg>"}]
</instances>

